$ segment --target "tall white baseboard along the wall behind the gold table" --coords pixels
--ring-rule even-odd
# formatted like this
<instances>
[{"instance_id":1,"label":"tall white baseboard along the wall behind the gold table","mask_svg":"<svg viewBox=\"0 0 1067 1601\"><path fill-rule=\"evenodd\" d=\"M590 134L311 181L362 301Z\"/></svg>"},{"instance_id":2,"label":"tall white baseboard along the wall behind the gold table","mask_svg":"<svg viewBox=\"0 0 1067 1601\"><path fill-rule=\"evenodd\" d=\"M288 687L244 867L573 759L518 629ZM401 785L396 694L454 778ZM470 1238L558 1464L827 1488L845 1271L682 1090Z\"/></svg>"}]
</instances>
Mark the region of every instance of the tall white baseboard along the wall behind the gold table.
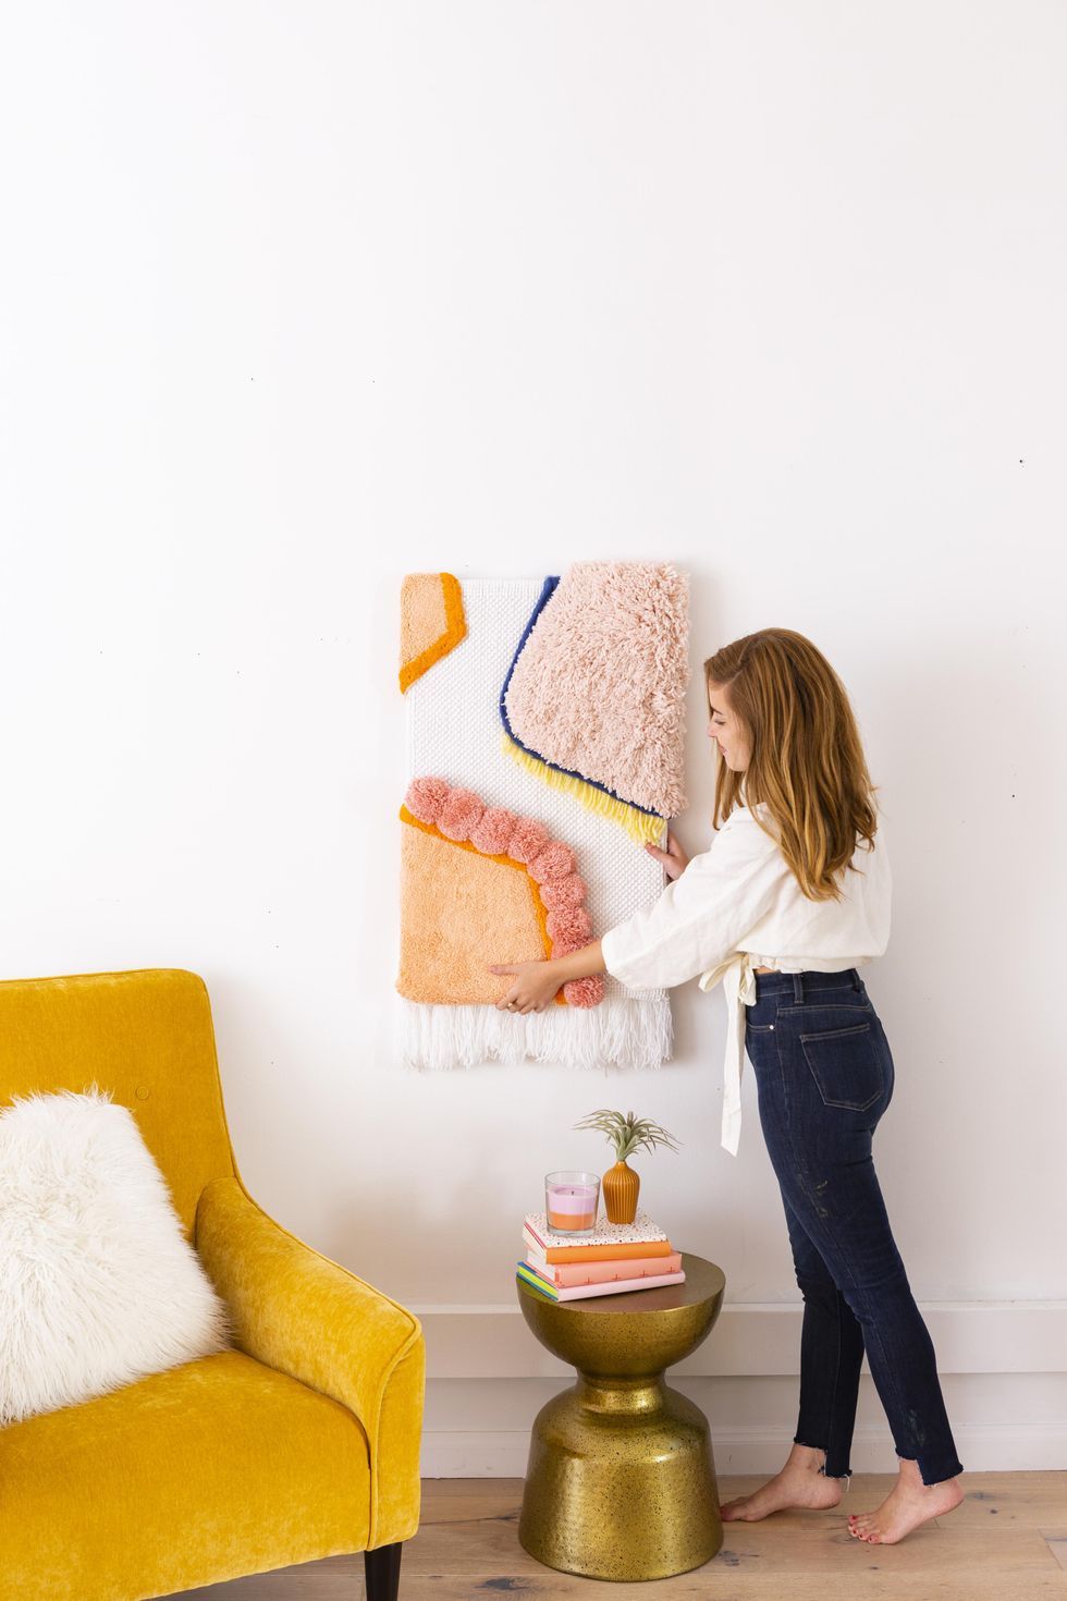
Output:
<instances>
[{"instance_id":1,"label":"tall white baseboard along the wall behind the gold table","mask_svg":"<svg viewBox=\"0 0 1067 1601\"><path fill-rule=\"evenodd\" d=\"M518 1303L411 1306L427 1348L426 1478L523 1478L530 1425L574 1369ZM920 1302L966 1471L1067 1470L1067 1302ZM774 1473L792 1446L803 1302L726 1303L667 1374L712 1418L720 1475ZM854 1473L896 1473L864 1358Z\"/></svg>"}]
</instances>

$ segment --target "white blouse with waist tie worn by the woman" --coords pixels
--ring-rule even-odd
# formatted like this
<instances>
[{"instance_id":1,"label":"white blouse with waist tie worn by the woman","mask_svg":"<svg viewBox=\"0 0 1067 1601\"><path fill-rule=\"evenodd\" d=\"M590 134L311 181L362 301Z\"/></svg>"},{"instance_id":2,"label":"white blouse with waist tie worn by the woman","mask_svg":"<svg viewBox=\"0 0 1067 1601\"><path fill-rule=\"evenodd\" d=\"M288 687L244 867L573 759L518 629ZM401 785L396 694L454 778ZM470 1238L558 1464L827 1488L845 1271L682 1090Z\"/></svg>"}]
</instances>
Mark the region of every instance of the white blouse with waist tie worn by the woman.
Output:
<instances>
[{"instance_id":1,"label":"white blouse with waist tie worn by the woman","mask_svg":"<svg viewBox=\"0 0 1067 1601\"><path fill-rule=\"evenodd\" d=\"M761 802L755 812L774 831ZM744 1009L757 999L755 967L837 973L864 967L889 943L893 879L878 812L875 849L856 847L843 900L813 901L801 892L776 839L757 815L736 805L709 850L693 857L651 906L601 937L606 970L627 989L665 989L701 975L701 989L723 980L726 1060L723 1148L737 1154Z\"/></svg>"}]
</instances>

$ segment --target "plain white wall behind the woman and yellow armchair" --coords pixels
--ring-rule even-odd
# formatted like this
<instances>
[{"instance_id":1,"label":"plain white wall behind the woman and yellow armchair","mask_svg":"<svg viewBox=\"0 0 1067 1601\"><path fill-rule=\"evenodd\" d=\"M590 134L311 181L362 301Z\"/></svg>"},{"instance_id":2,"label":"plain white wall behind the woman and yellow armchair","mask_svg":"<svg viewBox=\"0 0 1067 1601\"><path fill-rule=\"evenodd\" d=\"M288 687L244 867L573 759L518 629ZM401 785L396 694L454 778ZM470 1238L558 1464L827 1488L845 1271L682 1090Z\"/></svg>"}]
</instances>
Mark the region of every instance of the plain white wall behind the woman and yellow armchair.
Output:
<instances>
[{"instance_id":1,"label":"plain white wall behind the woman and yellow armchair","mask_svg":"<svg viewBox=\"0 0 1067 1601\"><path fill-rule=\"evenodd\" d=\"M474 1460L464 1340L512 1398L561 1382L514 1258L544 1170L606 1159L592 1106L685 1140L643 1202L733 1316L795 1308L750 1069L718 1145L721 991L625 1082L390 1053L400 576L672 559L696 664L789 626L853 695L889 1215L942 1369L1037 1383L1022 1465L1065 1467L1062 8L99 0L5 35L0 973L203 973L245 1178L426 1316L430 1467ZM689 850L702 730L694 680ZM753 1417L795 1318L776 1350Z\"/></svg>"}]
</instances>

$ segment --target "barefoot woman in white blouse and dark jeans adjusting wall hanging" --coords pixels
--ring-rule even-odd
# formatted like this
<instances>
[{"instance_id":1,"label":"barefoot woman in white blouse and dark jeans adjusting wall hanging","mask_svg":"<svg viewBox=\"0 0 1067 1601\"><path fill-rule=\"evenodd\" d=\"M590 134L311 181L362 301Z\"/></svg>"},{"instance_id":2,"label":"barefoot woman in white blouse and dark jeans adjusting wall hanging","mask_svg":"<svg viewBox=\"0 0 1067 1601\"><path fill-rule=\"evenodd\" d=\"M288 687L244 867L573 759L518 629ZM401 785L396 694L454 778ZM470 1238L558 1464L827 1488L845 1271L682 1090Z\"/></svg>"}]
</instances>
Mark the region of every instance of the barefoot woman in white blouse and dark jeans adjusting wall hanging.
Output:
<instances>
[{"instance_id":1,"label":"barefoot woman in white blouse and dark jeans adjusting wall hanging","mask_svg":"<svg viewBox=\"0 0 1067 1601\"><path fill-rule=\"evenodd\" d=\"M857 972L889 935L877 786L845 688L803 634L749 634L705 661L704 676L721 756L712 849L686 861L672 834L665 850L646 845L672 881L659 900L569 956L494 965L512 978L498 1005L542 1010L587 973L633 989L697 973L704 989L726 981L723 1145L737 1150L747 1049L805 1316L793 1449L723 1518L840 1502L865 1350L899 1475L873 1513L849 1518L849 1532L893 1545L960 1505L963 1465L872 1158L894 1085Z\"/></svg>"}]
</instances>

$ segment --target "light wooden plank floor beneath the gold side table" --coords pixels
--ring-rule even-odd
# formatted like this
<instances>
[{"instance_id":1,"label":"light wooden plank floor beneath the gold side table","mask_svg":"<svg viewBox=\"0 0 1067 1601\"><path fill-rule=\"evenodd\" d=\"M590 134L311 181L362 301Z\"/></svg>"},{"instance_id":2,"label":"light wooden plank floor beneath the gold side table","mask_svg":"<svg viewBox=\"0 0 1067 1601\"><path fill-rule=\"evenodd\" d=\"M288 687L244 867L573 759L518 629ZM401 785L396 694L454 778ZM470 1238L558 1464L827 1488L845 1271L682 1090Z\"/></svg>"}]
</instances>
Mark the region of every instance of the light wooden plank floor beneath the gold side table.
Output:
<instances>
[{"instance_id":1,"label":"light wooden plank floor beneath the gold side table","mask_svg":"<svg viewBox=\"0 0 1067 1601\"><path fill-rule=\"evenodd\" d=\"M720 1478L720 1500L766 1475ZM704 1567L649 1583L605 1583L544 1567L518 1543L522 1479L424 1479L422 1523L403 1551L400 1601L475 1601L498 1595L614 1596L616 1601L1067 1601L1067 1473L965 1473L966 1500L899 1545L848 1532L894 1475L856 1473L832 1511L779 1511L725 1524ZM187 1601L363 1601L363 1558L323 1563L184 1591Z\"/></svg>"}]
</instances>

